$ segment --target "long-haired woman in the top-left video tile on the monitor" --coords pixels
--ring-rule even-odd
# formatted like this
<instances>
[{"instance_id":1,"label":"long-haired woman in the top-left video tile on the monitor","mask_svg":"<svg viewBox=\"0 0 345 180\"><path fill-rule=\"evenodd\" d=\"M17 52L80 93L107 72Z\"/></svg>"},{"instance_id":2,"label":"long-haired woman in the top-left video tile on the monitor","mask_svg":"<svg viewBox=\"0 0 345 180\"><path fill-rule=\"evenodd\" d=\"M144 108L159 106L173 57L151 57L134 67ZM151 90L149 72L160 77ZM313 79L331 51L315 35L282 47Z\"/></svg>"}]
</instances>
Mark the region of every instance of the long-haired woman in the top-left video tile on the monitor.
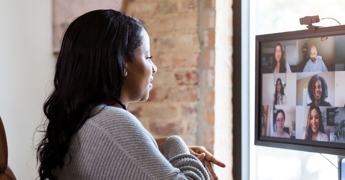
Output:
<instances>
[{"instance_id":1,"label":"long-haired woman in the top-left video tile on the monitor","mask_svg":"<svg viewBox=\"0 0 345 180\"><path fill-rule=\"evenodd\" d=\"M291 73L289 64L285 60L285 53L280 43L274 48L273 73Z\"/></svg>"}]
</instances>

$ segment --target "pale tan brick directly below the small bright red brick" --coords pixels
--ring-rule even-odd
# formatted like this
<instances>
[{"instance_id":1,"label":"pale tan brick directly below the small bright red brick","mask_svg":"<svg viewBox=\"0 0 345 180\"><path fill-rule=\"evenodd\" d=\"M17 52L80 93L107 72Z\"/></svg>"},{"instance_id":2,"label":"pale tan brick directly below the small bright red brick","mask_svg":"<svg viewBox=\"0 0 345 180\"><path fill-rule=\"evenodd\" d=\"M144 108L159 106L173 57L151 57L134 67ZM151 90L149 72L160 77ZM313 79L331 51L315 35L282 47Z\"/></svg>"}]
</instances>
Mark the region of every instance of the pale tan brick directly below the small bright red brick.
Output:
<instances>
[{"instance_id":1,"label":"pale tan brick directly below the small bright red brick","mask_svg":"<svg viewBox=\"0 0 345 180\"><path fill-rule=\"evenodd\" d=\"M172 101L195 102L198 100L197 87L174 87L168 89L167 99Z\"/></svg>"}]
</instances>

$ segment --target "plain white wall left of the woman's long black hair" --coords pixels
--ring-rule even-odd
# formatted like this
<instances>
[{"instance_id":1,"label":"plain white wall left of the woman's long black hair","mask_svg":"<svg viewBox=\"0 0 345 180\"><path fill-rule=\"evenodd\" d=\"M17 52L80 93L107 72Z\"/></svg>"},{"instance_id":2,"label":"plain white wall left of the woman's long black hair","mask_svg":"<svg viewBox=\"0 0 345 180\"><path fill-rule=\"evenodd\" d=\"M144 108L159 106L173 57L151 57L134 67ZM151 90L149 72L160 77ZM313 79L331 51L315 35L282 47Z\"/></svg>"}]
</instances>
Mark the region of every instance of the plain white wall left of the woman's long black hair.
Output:
<instances>
[{"instance_id":1,"label":"plain white wall left of the woman's long black hair","mask_svg":"<svg viewBox=\"0 0 345 180\"><path fill-rule=\"evenodd\" d=\"M51 0L0 0L0 116L17 179L37 177L33 132L50 92Z\"/></svg>"}]
</instances>

